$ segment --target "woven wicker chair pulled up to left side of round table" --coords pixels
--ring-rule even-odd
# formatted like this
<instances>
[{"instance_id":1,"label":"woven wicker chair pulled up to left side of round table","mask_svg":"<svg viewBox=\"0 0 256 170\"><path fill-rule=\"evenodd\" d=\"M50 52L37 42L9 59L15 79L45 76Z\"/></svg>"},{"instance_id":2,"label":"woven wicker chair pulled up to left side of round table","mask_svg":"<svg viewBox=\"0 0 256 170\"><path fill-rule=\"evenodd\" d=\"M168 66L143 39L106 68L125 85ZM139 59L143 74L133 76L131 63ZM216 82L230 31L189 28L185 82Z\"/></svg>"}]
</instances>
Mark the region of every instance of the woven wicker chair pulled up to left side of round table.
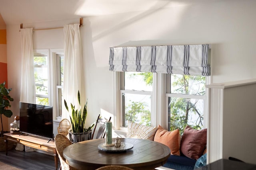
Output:
<instances>
[{"instance_id":1,"label":"woven wicker chair pulled up to left side of round table","mask_svg":"<svg viewBox=\"0 0 256 170\"><path fill-rule=\"evenodd\" d=\"M72 143L62 134L57 134L54 141L60 159L60 168L62 170L76 170L76 168L69 166L69 164L66 163L66 159L63 157L63 150L69 145L72 145Z\"/></svg>"}]
</instances>

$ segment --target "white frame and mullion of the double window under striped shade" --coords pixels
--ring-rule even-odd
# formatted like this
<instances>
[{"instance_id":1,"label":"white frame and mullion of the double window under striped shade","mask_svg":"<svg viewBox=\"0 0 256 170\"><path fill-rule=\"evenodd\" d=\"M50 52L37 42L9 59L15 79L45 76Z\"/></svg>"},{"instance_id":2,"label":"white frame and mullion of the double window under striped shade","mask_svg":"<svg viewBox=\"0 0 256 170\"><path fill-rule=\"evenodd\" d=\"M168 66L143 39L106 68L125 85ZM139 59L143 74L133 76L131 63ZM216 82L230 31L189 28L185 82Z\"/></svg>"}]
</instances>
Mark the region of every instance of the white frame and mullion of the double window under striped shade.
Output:
<instances>
[{"instance_id":1,"label":"white frame and mullion of the double window under striped shade","mask_svg":"<svg viewBox=\"0 0 256 170\"><path fill-rule=\"evenodd\" d=\"M126 92L121 89L121 72L113 72L114 77L114 129L127 131L126 127L122 127L122 92ZM153 92L151 100L151 125L161 125L165 129L168 129L168 97L180 97L184 98L184 94L167 94L166 86L166 74L154 73L153 74ZM210 76L206 76L206 83L210 84ZM209 103L209 89L205 89L205 96L186 95L186 98L198 98L204 100L204 128L208 125L208 103ZM131 90L129 90L131 91ZM132 92L131 92L132 93Z\"/></svg>"}]
</instances>

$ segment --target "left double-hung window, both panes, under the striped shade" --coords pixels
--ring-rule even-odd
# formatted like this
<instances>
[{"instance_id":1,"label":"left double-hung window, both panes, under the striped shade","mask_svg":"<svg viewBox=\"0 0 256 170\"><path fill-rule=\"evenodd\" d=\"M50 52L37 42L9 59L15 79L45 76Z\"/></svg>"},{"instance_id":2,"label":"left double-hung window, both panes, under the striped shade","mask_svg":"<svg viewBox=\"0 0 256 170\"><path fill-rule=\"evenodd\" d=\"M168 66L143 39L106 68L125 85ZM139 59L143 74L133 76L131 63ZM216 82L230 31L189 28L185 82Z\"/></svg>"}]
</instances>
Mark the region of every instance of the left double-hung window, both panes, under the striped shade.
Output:
<instances>
[{"instance_id":1,"label":"left double-hung window, both panes, under the striped shade","mask_svg":"<svg viewBox=\"0 0 256 170\"><path fill-rule=\"evenodd\" d=\"M151 125L152 83L147 78L152 73L122 72L122 126L127 127L128 121L143 125Z\"/></svg>"}]
</instances>

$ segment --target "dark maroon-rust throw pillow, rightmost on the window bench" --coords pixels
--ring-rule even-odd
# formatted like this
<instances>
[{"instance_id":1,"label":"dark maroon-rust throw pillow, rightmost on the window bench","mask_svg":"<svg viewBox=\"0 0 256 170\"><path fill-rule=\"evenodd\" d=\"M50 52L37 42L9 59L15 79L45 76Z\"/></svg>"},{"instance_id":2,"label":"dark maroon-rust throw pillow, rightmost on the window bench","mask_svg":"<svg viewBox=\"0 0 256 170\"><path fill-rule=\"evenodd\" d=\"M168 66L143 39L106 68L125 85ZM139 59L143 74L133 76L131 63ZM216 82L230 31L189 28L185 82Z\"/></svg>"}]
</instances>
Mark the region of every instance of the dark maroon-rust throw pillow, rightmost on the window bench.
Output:
<instances>
[{"instance_id":1,"label":"dark maroon-rust throw pillow, rightmost on the window bench","mask_svg":"<svg viewBox=\"0 0 256 170\"><path fill-rule=\"evenodd\" d=\"M180 151L191 159L202 156L206 147L207 129L196 130L186 126L180 142Z\"/></svg>"}]
</instances>

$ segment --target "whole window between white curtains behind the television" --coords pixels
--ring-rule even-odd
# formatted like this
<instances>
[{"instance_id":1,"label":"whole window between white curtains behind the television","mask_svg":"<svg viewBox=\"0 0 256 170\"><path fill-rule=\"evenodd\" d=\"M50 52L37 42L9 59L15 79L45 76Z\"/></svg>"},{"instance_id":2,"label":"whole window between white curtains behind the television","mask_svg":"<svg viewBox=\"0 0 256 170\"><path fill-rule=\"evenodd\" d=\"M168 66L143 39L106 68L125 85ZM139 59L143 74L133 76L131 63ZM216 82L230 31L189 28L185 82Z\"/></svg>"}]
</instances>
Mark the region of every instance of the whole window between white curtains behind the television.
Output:
<instances>
[{"instance_id":1,"label":"whole window between white curtains behind the television","mask_svg":"<svg viewBox=\"0 0 256 170\"><path fill-rule=\"evenodd\" d=\"M63 49L34 50L36 104L54 106L54 117L62 113Z\"/></svg>"}]
</instances>

